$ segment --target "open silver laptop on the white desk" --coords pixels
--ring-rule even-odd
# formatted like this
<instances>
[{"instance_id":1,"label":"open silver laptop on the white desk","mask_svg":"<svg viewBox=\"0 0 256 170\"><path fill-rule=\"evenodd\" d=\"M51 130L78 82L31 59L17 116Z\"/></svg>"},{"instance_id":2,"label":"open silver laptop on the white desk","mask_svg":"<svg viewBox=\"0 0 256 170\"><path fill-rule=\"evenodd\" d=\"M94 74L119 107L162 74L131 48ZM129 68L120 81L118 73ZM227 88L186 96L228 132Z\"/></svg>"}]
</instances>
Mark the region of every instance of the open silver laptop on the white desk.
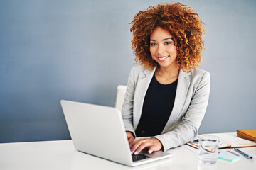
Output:
<instances>
[{"instance_id":1,"label":"open silver laptop on the white desk","mask_svg":"<svg viewBox=\"0 0 256 170\"><path fill-rule=\"evenodd\" d=\"M167 152L145 150L132 155L117 108L75 101L60 101L75 149L127 166L138 166L171 157Z\"/></svg>"}]
</instances>

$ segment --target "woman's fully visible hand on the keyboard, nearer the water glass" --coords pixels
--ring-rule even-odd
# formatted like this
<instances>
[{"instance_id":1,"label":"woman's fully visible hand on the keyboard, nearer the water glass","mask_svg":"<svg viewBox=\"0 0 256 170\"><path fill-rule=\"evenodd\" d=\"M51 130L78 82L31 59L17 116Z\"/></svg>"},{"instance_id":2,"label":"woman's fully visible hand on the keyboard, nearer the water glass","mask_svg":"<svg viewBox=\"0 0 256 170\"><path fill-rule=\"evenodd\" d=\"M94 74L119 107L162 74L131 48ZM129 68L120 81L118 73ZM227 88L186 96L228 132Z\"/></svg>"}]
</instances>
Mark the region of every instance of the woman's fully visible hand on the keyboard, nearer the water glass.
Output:
<instances>
[{"instance_id":1,"label":"woman's fully visible hand on the keyboard, nearer the water glass","mask_svg":"<svg viewBox=\"0 0 256 170\"><path fill-rule=\"evenodd\" d=\"M136 140L132 143L129 143L129 146L132 154L139 154L139 152L141 152L144 148L149 148L148 152L151 154L152 152L161 150L163 147L161 142L154 137Z\"/></svg>"}]
</instances>

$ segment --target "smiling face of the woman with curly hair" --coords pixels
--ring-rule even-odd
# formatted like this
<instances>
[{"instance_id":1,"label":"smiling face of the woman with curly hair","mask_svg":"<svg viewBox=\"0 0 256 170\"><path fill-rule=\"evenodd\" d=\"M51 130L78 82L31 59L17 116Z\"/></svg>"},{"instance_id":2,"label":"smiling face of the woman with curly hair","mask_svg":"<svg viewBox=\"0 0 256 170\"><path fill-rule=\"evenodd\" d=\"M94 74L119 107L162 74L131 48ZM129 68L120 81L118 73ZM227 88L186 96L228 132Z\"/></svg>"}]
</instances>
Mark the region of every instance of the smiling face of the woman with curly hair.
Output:
<instances>
[{"instance_id":1,"label":"smiling face of the woman with curly hair","mask_svg":"<svg viewBox=\"0 0 256 170\"><path fill-rule=\"evenodd\" d=\"M160 67L176 67L177 49L168 30L156 27L150 35L150 53Z\"/></svg>"}]
</instances>

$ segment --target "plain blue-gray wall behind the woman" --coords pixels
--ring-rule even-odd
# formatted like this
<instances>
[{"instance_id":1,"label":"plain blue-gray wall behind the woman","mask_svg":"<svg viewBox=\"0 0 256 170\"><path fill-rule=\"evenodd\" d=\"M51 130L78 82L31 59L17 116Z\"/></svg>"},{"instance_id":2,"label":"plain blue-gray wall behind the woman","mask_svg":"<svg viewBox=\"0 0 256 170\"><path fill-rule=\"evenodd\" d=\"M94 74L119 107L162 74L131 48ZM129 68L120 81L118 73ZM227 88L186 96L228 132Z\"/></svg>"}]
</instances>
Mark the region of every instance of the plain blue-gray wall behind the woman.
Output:
<instances>
[{"instance_id":1,"label":"plain blue-gray wall behind the woman","mask_svg":"<svg viewBox=\"0 0 256 170\"><path fill-rule=\"evenodd\" d=\"M134 66L128 23L161 2L0 1L0 142L70 139L60 99L114 106ZM206 23L211 91L199 131L256 128L256 1L181 2Z\"/></svg>"}]
</instances>

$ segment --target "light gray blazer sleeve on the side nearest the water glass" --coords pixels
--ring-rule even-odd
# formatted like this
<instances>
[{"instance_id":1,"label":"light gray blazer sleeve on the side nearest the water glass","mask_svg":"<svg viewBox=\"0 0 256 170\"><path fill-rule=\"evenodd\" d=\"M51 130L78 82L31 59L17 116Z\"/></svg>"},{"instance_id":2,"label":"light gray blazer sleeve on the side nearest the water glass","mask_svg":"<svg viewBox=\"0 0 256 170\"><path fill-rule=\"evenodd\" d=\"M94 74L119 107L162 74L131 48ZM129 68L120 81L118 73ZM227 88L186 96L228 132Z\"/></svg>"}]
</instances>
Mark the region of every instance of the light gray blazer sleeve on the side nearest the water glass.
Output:
<instances>
[{"instance_id":1,"label":"light gray blazer sleeve on the side nearest the water glass","mask_svg":"<svg viewBox=\"0 0 256 170\"><path fill-rule=\"evenodd\" d=\"M210 95L210 73L205 72L196 87L188 109L175 128L162 135L155 136L161 141L164 150L178 147L193 140L206 113Z\"/></svg>"}]
</instances>

